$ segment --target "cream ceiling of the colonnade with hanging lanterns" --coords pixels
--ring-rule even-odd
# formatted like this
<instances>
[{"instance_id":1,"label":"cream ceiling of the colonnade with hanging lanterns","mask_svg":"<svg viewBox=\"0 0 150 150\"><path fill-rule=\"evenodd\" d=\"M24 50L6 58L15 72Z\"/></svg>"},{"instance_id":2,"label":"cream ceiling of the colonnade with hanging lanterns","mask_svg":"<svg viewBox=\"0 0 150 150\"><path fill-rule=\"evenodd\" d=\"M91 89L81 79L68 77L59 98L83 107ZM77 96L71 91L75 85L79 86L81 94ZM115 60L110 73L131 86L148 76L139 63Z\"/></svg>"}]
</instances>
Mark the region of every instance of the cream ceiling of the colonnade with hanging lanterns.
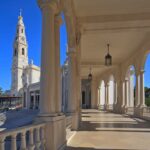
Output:
<instances>
[{"instance_id":1,"label":"cream ceiling of the colonnade with hanging lanterns","mask_svg":"<svg viewBox=\"0 0 150 150\"><path fill-rule=\"evenodd\" d=\"M82 28L82 76L102 73L107 43L113 66L126 61L150 37L150 0L73 0Z\"/></svg>"}]
</instances>

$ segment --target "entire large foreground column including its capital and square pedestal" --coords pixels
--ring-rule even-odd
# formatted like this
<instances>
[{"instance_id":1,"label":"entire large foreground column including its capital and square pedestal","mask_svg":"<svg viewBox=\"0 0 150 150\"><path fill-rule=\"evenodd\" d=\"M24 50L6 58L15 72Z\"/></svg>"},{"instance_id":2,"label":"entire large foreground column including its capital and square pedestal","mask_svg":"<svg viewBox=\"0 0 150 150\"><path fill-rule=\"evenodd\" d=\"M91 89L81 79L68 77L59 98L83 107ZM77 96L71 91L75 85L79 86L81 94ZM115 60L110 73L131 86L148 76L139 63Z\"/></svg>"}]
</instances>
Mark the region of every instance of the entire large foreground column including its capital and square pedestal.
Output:
<instances>
[{"instance_id":1,"label":"entire large foreground column including its capital and square pedestal","mask_svg":"<svg viewBox=\"0 0 150 150\"><path fill-rule=\"evenodd\" d=\"M38 0L42 10L42 56L40 81L40 114L36 122L45 122L45 149L58 150L66 145L66 120L56 110L56 35L55 15L58 14L57 0ZM58 98L58 97L57 97Z\"/></svg>"}]
</instances>

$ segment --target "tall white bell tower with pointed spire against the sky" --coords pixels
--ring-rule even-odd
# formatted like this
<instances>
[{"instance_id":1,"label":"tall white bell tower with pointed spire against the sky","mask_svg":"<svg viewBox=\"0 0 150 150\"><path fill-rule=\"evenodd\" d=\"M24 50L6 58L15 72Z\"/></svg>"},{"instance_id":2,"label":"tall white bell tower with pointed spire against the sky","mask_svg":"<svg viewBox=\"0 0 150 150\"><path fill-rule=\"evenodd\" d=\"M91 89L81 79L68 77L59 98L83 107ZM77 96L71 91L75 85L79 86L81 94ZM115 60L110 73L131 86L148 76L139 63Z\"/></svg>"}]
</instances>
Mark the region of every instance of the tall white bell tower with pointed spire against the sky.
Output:
<instances>
[{"instance_id":1,"label":"tall white bell tower with pointed spire against the sky","mask_svg":"<svg viewBox=\"0 0 150 150\"><path fill-rule=\"evenodd\" d=\"M12 83L11 94L17 96L21 88L23 88L22 75L23 70L28 66L28 45L25 35L25 26L23 17L18 17L17 33L13 47L13 63L12 63Z\"/></svg>"}]
</instances>

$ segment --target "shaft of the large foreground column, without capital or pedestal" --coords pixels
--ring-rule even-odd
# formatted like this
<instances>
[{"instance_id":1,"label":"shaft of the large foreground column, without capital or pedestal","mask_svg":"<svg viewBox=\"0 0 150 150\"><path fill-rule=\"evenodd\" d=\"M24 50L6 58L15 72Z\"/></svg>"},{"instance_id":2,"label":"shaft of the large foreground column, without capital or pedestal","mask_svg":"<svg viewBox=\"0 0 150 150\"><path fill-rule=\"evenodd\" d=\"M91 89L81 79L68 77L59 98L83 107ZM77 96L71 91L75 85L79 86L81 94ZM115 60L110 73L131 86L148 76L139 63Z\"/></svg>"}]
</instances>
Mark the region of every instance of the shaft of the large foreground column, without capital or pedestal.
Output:
<instances>
[{"instance_id":1,"label":"shaft of the large foreground column, without capital or pedestal","mask_svg":"<svg viewBox=\"0 0 150 150\"><path fill-rule=\"evenodd\" d=\"M54 11L50 7L43 8L42 57L41 57L41 114L55 114L55 36Z\"/></svg>"}]
</instances>

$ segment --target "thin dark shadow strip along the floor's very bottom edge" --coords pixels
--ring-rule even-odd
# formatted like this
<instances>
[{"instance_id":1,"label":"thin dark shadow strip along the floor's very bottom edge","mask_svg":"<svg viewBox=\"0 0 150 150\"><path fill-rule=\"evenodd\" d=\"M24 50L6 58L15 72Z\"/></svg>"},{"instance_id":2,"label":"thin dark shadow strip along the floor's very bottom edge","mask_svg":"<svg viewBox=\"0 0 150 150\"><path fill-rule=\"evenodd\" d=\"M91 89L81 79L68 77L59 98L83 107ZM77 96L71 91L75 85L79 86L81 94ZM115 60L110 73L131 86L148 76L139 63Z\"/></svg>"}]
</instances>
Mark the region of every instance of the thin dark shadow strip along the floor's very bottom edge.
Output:
<instances>
[{"instance_id":1,"label":"thin dark shadow strip along the floor's very bottom edge","mask_svg":"<svg viewBox=\"0 0 150 150\"><path fill-rule=\"evenodd\" d=\"M137 150L137 149L110 149L110 148L89 148L89 147L70 147L67 146L66 150Z\"/></svg>"}]
</instances>

